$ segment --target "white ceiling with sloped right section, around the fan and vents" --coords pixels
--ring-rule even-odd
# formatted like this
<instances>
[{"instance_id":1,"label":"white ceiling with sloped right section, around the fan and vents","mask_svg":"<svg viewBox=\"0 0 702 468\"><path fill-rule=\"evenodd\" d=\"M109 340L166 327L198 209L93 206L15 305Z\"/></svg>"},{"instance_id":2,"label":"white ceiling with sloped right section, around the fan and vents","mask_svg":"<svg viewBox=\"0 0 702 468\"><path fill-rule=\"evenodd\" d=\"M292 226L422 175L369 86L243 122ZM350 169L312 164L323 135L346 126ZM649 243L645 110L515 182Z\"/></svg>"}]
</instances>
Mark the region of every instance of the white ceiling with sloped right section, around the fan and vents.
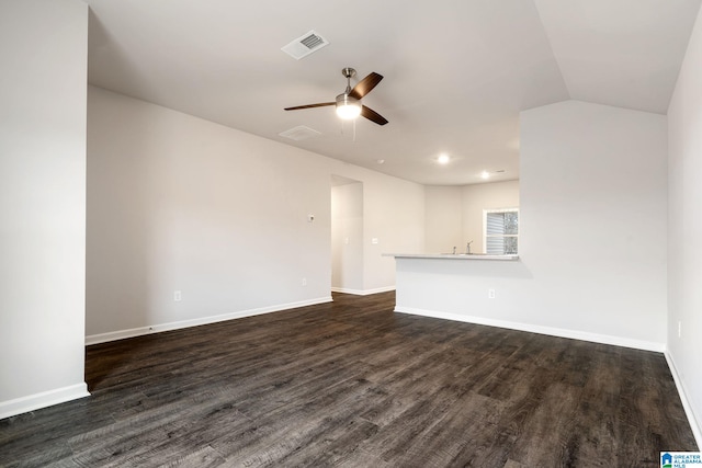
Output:
<instances>
[{"instance_id":1,"label":"white ceiling with sloped right section, around the fan and vents","mask_svg":"<svg viewBox=\"0 0 702 468\"><path fill-rule=\"evenodd\" d=\"M701 1L87 0L89 81L423 184L513 180L520 111L575 99L665 114ZM330 44L281 50L310 30ZM333 101L343 67L352 84L385 77L363 103L389 124L283 111ZM321 135L279 136L298 125Z\"/></svg>"}]
</instances>

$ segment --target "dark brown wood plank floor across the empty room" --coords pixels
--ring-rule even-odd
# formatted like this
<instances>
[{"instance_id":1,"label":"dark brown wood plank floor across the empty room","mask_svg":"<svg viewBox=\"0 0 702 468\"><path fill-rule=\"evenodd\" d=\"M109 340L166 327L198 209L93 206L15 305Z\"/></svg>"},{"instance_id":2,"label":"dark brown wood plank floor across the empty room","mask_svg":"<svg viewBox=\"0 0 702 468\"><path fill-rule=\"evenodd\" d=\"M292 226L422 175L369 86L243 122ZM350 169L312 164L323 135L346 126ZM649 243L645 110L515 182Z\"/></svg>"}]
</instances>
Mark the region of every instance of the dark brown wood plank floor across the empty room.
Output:
<instances>
[{"instance_id":1,"label":"dark brown wood plank floor across the empty room","mask_svg":"<svg viewBox=\"0 0 702 468\"><path fill-rule=\"evenodd\" d=\"M394 294L89 346L91 398L3 467L658 467L697 450L661 354L393 312Z\"/></svg>"}]
</instances>

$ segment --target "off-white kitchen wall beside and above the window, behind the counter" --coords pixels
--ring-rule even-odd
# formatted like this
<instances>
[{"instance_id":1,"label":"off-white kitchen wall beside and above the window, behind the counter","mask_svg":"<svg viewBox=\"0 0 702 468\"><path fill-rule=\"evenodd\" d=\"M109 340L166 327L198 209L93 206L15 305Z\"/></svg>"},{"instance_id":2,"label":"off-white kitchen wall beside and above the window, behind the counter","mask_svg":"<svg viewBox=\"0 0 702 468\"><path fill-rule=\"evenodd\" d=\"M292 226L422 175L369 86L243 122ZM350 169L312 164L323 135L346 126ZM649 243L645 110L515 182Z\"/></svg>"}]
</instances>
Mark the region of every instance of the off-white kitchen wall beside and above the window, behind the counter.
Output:
<instances>
[{"instance_id":1,"label":"off-white kitchen wall beside and above the window, behind the counter","mask_svg":"<svg viewBox=\"0 0 702 468\"><path fill-rule=\"evenodd\" d=\"M485 252L483 210L519 207L519 181L427 186L427 253Z\"/></svg>"}]
</instances>

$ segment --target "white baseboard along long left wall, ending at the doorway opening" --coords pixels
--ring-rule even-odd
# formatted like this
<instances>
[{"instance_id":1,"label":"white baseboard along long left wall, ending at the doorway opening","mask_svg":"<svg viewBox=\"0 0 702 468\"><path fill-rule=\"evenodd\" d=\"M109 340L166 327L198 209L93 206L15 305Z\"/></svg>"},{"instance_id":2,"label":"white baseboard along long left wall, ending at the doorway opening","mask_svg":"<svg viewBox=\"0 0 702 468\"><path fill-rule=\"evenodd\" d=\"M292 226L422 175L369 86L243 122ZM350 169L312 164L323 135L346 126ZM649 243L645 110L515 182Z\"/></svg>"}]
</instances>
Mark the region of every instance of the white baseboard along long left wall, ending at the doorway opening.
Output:
<instances>
[{"instance_id":1,"label":"white baseboard along long left wall, ending at the doorway opening","mask_svg":"<svg viewBox=\"0 0 702 468\"><path fill-rule=\"evenodd\" d=\"M244 317L260 316L262 313L279 312L281 310L295 309L297 307L314 306L316 304L331 303L331 296L319 297L316 299L301 300L298 303L281 304L270 307L261 307L258 309L240 310L231 313L223 313L219 316L202 317L192 320L181 320L169 323L155 323L146 327L139 327L127 330L117 330L106 333L90 334L86 336L86 345L106 343L109 341L124 340L125 338L141 336L150 333L159 333L169 330L179 330L189 327L205 326L208 323L223 322L225 320L240 319Z\"/></svg>"}]
</instances>

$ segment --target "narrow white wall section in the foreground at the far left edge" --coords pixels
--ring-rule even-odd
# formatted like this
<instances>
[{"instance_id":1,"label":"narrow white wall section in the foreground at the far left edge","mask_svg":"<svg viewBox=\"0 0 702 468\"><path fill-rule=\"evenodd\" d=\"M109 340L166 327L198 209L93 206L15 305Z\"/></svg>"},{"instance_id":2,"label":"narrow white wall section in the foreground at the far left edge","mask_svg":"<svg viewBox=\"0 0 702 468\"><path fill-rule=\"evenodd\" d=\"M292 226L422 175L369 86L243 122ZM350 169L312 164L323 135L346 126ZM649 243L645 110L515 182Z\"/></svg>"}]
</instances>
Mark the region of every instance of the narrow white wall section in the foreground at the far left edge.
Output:
<instances>
[{"instance_id":1,"label":"narrow white wall section in the foreground at the far left edge","mask_svg":"<svg viewBox=\"0 0 702 468\"><path fill-rule=\"evenodd\" d=\"M87 395L88 7L0 2L0 418Z\"/></svg>"}]
</instances>

